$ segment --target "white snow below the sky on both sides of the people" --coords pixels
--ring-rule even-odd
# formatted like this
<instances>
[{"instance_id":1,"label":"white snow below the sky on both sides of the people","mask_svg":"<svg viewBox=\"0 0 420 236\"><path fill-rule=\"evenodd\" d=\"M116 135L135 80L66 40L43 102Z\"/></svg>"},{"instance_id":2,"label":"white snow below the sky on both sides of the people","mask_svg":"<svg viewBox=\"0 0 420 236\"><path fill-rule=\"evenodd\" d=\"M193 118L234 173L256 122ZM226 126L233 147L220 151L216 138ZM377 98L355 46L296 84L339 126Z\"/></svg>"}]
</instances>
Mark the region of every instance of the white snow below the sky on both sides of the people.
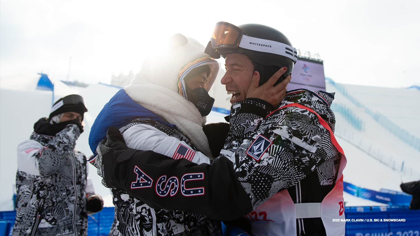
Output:
<instances>
[{"instance_id":1,"label":"white snow below the sky on both sides of the people","mask_svg":"<svg viewBox=\"0 0 420 236\"><path fill-rule=\"evenodd\" d=\"M38 75L22 75L19 78L0 79L0 211L12 210L12 196L16 176L16 147L29 138L33 123L50 113L51 92L36 90ZM216 95L215 106L228 109L226 90L215 82L210 93ZM372 110L379 111L413 135L419 137L420 126L415 118L420 116L420 92L408 89L388 89L344 85L360 102ZM118 88L102 84L92 84L87 88L68 87L55 81L55 100L68 94L81 94L89 112L84 118L84 133L77 140L76 149L91 155L88 145L90 125L97 114ZM414 181L420 178L420 152L391 134L364 110L354 106L343 94L327 83L328 92L336 92L337 102L352 109L365 123L365 131L354 129L344 117L336 113L336 136L347 157L344 181L379 190L381 188L399 191L401 181ZM223 94L223 95L222 95ZM218 98L217 98L218 96ZM224 114L212 112L207 123L223 122ZM375 159L375 158L376 159ZM379 160L381 159L383 163ZM414 173L401 173L401 163L414 170ZM395 170L391 167L394 165ZM391 167L390 167L391 166ZM89 168L89 177L95 183L98 194L105 199L106 206L112 206L108 189L100 184L95 168ZM383 205L344 193L347 206Z\"/></svg>"}]
</instances>

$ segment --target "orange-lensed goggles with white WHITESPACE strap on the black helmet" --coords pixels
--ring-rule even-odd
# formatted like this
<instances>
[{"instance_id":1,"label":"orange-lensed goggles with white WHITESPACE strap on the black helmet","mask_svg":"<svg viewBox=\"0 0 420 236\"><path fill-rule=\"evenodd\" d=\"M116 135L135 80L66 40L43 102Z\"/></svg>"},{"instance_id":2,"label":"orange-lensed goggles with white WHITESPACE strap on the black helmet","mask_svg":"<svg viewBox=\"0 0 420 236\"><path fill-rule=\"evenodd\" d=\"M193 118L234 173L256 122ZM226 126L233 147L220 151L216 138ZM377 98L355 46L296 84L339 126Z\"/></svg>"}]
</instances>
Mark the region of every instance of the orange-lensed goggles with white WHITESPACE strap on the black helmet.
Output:
<instances>
[{"instance_id":1,"label":"orange-lensed goggles with white WHITESPACE strap on the black helmet","mask_svg":"<svg viewBox=\"0 0 420 236\"><path fill-rule=\"evenodd\" d=\"M295 63L297 61L296 48L281 42L247 36L238 26L224 21L216 23L205 53L212 58L220 58L220 55L224 57L226 54L241 53L242 49L273 53L290 58Z\"/></svg>"}]
</instances>

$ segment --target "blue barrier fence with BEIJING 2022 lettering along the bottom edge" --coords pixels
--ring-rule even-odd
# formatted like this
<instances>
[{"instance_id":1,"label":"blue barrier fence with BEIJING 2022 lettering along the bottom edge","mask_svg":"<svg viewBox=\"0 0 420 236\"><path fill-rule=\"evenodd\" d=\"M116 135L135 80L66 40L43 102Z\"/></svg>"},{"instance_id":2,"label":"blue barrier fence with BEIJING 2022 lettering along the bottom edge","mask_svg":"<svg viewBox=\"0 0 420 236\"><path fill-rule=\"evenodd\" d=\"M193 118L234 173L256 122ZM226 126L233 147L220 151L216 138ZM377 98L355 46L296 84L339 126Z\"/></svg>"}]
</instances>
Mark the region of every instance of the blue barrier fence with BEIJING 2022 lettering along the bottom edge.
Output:
<instances>
[{"instance_id":1,"label":"blue barrier fence with BEIJING 2022 lettering along the bottom edge","mask_svg":"<svg viewBox=\"0 0 420 236\"><path fill-rule=\"evenodd\" d=\"M15 211L0 212L0 236L8 235L6 230L13 226L15 214ZM409 210L406 206L346 207L345 215L346 236L420 235L420 210ZM108 235L113 220L114 207L105 207L89 216L88 236ZM225 236L238 235L238 231L233 232Z\"/></svg>"}]
</instances>

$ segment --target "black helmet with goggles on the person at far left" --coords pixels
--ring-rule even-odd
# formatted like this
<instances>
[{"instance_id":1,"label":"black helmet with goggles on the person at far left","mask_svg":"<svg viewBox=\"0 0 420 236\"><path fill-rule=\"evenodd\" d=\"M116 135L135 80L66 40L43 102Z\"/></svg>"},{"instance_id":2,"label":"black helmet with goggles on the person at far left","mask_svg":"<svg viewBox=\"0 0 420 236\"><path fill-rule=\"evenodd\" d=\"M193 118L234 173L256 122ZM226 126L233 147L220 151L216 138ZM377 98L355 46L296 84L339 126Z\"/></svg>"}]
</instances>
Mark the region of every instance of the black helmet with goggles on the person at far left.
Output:
<instances>
[{"instance_id":1,"label":"black helmet with goggles on the person at far left","mask_svg":"<svg viewBox=\"0 0 420 236\"><path fill-rule=\"evenodd\" d=\"M87 108L84 105L84 100L82 96L77 94L71 94L57 100L57 102L55 102L53 107L51 108L51 113L48 119L51 120L51 118L54 115L70 111L79 113L81 115L81 120L83 121L83 115L85 112L87 112Z\"/></svg>"}]
</instances>

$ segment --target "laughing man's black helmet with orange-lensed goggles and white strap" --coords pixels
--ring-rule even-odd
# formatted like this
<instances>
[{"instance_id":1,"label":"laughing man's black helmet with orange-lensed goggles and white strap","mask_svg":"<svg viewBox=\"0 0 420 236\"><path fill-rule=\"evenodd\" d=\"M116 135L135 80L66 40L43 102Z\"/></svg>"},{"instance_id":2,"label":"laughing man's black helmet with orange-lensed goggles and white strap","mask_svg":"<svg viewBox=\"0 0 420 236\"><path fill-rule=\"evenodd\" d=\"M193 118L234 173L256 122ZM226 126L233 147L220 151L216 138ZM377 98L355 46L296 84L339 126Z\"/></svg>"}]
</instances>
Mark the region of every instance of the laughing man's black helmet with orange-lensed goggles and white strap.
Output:
<instances>
[{"instance_id":1,"label":"laughing man's black helmet with orange-lensed goggles and white strap","mask_svg":"<svg viewBox=\"0 0 420 236\"><path fill-rule=\"evenodd\" d=\"M212 58L226 58L227 54L247 55L254 64L254 71L260 72L260 84L264 84L280 68L287 71L276 84L286 79L297 61L297 50L280 31L261 24L216 23L212 38L205 53Z\"/></svg>"}]
</instances>

